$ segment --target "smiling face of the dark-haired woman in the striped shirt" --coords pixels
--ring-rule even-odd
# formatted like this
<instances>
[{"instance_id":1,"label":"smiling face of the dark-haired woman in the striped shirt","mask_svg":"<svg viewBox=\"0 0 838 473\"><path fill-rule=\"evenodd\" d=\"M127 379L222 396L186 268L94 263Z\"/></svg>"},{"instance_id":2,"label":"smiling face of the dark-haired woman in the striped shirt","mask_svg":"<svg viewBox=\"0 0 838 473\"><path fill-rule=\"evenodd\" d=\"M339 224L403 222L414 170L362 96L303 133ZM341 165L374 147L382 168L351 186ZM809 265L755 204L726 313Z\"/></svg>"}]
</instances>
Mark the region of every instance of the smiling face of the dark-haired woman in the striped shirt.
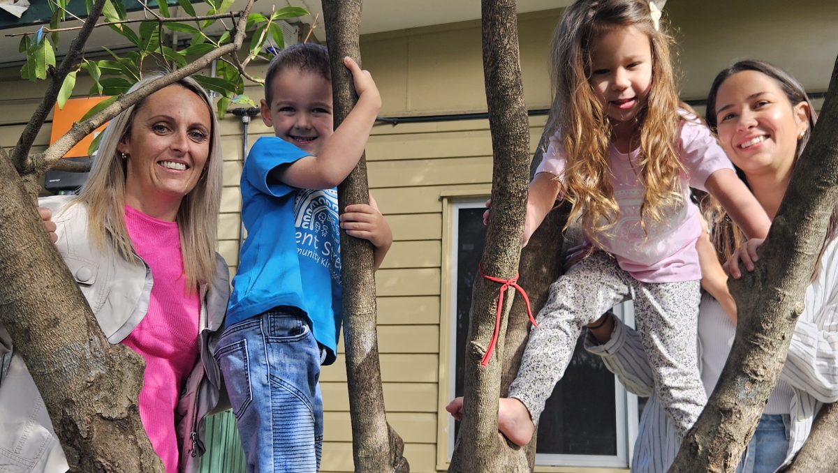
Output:
<instances>
[{"instance_id":1,"label":"smiling face of the dark-haired woman in the striped shirt","mask_svg":"<svg viewBox=\"0 0 838 473\"><path fill-rule=\"evenodd\" d=\"M755 70L731 75L716 95L719 141L747 175L770 172L786 177L808 117L809 105L791 104L776 80Z\"/></svg>"}]
</instances>

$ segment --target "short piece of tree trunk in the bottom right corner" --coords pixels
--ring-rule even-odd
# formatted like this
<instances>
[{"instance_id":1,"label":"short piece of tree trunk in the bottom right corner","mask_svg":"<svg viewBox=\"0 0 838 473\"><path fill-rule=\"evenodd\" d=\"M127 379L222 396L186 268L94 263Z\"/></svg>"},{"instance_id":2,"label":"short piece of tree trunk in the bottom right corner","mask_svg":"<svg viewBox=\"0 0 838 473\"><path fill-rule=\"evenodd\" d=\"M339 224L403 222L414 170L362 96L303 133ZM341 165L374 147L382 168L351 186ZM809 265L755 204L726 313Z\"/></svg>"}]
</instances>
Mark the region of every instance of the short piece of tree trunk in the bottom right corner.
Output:
<instances>
[{"instance_id":1,"label":"short piece of tree trunk in the bottom right corner","mask_svg":"<svg viewBox=\"0 0 838 473\"><path fill-rule=\"evenodd\" d=\"M812 432L785 473L834 473L838 471L838 404L820 409Z\"/></svg>"}]
</instances>

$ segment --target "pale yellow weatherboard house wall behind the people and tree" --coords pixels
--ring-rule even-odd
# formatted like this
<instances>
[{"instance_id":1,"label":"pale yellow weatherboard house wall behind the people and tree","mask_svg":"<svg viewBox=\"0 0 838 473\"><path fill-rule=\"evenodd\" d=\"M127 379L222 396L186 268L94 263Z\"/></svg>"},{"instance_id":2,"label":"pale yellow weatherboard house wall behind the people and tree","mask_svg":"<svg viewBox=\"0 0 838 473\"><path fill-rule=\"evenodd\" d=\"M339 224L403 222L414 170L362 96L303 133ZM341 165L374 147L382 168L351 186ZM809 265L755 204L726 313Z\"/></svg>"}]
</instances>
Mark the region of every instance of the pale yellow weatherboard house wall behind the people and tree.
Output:
<instances>
[{"instance_id":1,"label":"pale yellow weatherboard house wall behind the people and tree","mask_svg":"<svg viewBox=\"0 0 838 473\"><path fill-rule=\"evenodd\" d=\"M526 103L550 104L546 55L560 10L520 16L520 57ZM701 99L716 72L735 59L768 59L786 67L807 90L823 91L838 55L838 2L817 0L672 0L665 8L679 30L680 75L685 99ZM365 69L379 85L381 116L427 116L485 111L480 29L477 21L451 23L361 39ZM250 72L264 75L266 64ZM45 85L19 80L19 68L0 69L0 146L13 147ZM90 82L80 76L77 90ZM257 101L261 87L248 86ZM81 95L79 95L81 96ZM530 119L530 149L541 135L543 116ZM238 183L241 175L241 121L221 120L224 193L220 251L235 271L238 261ZM257 117L251 145L270 129ZM34 152L49 141L49 122ZM376 274L381 369L388 419L406 440L411 470L444 467L447 445L448 227L442 195L485 193L491 181L491 141L485 120L376 125L367 146L370 188L393 229L394 244ZM352 471L349 404L343 358L323 368L325 444L323 471ZM441 394L442 392L442 394ZM541 470L541 469L540 469ZM615 471L544 469L545 471Z\"/></svg>"}]
</instances>

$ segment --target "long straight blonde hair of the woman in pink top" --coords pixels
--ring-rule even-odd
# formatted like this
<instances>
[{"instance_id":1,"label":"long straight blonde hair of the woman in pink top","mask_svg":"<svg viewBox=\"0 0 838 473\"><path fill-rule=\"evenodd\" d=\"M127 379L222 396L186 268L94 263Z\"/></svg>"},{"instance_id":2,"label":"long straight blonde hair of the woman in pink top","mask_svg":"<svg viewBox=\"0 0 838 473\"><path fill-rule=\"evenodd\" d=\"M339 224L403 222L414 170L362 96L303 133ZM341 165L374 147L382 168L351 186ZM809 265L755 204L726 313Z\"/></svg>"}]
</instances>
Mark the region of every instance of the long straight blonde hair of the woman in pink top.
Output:
<instances>
[{"instance_id":1,"label":"long straight blonde hair of the woman in pink top","mask_svg":"<svg viewBox=\"0 0 838 473\"><path fill-rule=\"evenodd\" d=\"M146 76L133 85L131 90L161 76ZM204 100L211 121L205 174L181 201L175 217L180 230L180 251L184 259L187 287L197 290L199 284L207 283L215 277L222 187L220 130L209 96L197 82L187 77L173 85L179 85ZM74 199L74 203L84 203L87 208L87 231L93 243L100 249L110 247L128 261L134 260L136 256L125 226L127 164L118 156L116 146L131 132L134 116L146 100L147 97L127 108L108 124L101 137L96 159L93 160L91 175Z\"/></svg>"}]
</instances>

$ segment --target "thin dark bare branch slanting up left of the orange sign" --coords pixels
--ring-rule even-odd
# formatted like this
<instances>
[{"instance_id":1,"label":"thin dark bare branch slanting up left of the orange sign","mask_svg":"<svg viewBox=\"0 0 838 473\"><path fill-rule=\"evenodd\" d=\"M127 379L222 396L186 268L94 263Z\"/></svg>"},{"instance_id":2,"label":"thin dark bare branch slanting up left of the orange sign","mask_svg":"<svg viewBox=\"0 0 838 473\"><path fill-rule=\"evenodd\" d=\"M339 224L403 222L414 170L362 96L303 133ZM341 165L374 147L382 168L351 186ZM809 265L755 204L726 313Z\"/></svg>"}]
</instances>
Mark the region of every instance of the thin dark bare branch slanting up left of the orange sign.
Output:
<instances>
[{"instance_id":1,"label":"thin dark bare branch slanting up left of the orange sign","mask_svg":"<svg viewBox=\"0 0 838 473\"><path fill-rule=\"evenodd\" d=\"M26 128L23 129L23 133L21 133L20 139L18 139L18 144L15 145L12 150L12 163L21 175L31 172L34 167L33 163L28 160L29 151L32 149L32 143L35 142L35 137L38 136L38 131L40 131L41 127L44 126L44 121L46 121L49 111L51 111L55 105L55 100L58 100L58 93L59 90L61 90L61 85L64 83L65 77L70 74L70 70L74 68L75 60L79 58L79 55L85 48L85 43L87 43L87 39L90 38L93 28L96 27L96 20L99 18L99 15L101 15L102 8L105 7L105 3L106 0L96 0L96 3L93 4L90 16L87 17L85 24L82 25L79 35L76 36L70 43L70 47L67 49L67 54L65 54L64 59L58 66L58 69L55 69L54 73L50 75L49 85L47 85L47 90L44 93L44 99L41 100L38 108L29 118ZM80 141L83 137L84 135L80 136L76 142ZM67 149L69 150L70 148Z\"/></svg>"}]
</instances>

